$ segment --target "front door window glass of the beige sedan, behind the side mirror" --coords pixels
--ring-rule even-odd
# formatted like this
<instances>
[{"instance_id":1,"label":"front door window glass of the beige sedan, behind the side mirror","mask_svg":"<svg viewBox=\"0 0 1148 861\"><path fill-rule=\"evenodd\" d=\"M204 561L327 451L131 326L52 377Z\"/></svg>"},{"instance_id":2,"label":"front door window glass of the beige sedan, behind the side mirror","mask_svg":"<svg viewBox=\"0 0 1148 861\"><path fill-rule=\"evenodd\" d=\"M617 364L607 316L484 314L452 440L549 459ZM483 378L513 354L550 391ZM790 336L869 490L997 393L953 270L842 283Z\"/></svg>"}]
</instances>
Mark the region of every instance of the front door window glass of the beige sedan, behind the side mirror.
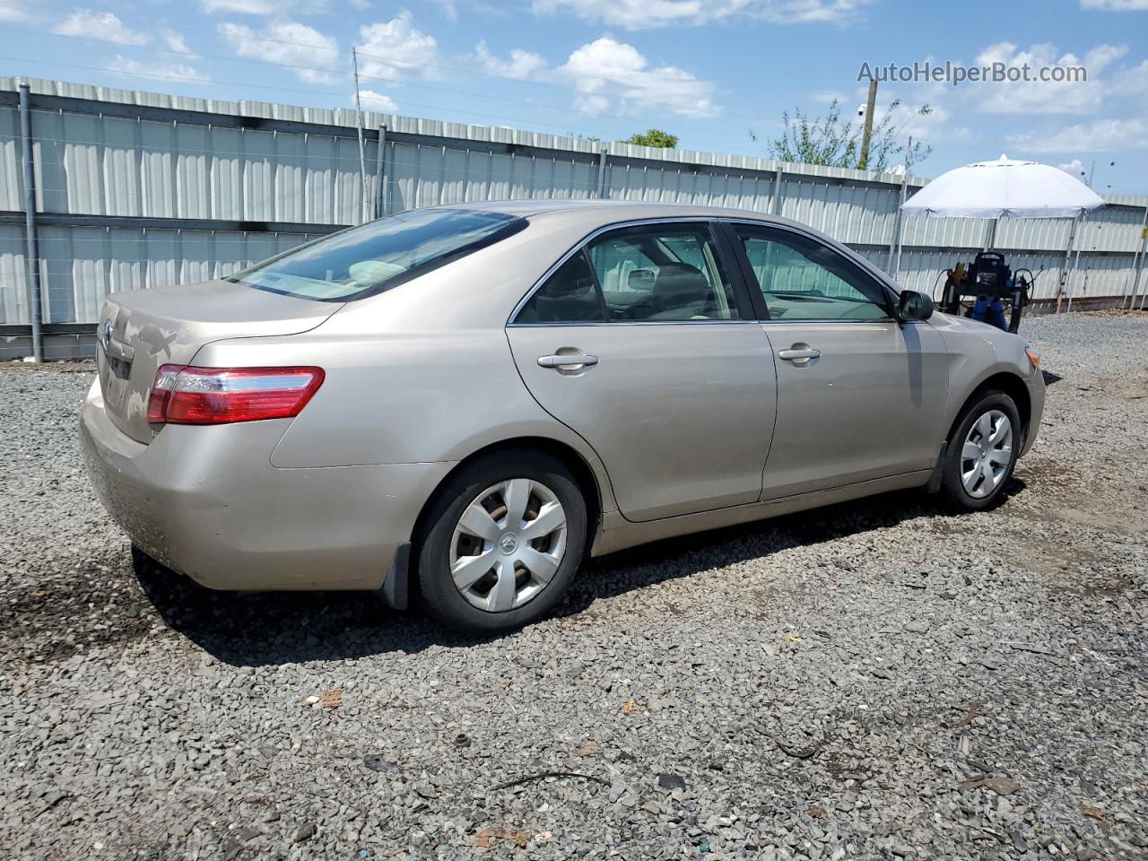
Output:
<instances>
[{"instance_id":1,"label":"front door window glass of the beige sedan, behind the side mirror","mask_svg":"<svg viewBox=\"0 0 1148 861\"><path fill-rule=\"evenodd\" d=\"M735 225L775 320L883 320L882 286L828 246L790 231Z\"/></svg>"}]
</instances>

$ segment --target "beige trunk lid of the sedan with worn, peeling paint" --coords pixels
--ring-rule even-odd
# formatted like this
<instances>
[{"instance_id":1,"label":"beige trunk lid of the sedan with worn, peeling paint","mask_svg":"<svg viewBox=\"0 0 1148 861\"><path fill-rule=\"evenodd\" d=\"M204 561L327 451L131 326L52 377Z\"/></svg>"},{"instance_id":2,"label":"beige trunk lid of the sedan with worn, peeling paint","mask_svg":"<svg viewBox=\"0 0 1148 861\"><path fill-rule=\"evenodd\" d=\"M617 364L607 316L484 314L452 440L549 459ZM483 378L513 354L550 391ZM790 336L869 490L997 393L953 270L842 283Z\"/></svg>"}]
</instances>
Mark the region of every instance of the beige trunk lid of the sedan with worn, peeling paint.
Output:
<instances>
[{"instance_id":1,"label":"beige trunk lid of the sedan with worn, peeling paint","mask_svg":"<svg viewBox=\"0 0 1148 861\"><path fill-rule=\"evenodd\" d=\"M160 365L189 364L210 341L307 332L341 307L222 280L113 294L95 332L108 413L125 434L150 442L147 401Z\"/></svg>"}]
</instances>

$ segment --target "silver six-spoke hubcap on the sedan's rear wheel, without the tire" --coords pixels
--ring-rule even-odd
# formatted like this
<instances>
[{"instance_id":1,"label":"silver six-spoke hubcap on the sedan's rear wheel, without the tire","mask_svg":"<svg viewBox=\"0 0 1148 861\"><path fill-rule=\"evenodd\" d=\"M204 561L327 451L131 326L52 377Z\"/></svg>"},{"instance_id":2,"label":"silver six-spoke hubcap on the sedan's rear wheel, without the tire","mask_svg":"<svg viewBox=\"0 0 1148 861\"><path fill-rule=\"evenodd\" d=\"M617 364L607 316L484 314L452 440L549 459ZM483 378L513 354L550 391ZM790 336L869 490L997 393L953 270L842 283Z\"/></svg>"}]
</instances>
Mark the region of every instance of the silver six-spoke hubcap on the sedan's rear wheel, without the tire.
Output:
<instances>
[{"instance_id":1,"label":"silver six-spoke hubcap on the sedan's rear wheel, without the tire","mask_svg":"<svg viewBox=\"0 0 1148 861\"><path fill-rule=\"evenodd\" d=\"M566 512L545 484L510 479L479 494L455 526L450 574L479 610L522 606L550 584L566 553Z\"/></svg>"}]
</instances>

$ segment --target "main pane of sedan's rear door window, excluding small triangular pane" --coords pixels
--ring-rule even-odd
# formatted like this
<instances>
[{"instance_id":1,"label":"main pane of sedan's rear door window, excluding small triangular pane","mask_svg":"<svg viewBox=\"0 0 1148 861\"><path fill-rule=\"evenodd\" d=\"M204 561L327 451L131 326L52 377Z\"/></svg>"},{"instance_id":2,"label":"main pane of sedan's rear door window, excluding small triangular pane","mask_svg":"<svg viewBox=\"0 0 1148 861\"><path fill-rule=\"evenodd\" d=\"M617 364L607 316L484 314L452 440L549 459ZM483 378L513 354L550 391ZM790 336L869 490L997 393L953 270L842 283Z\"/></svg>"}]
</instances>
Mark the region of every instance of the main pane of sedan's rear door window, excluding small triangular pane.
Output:
<instances>
[{"instance_id":1,"label":"main pane of sedan's rear door window, excluding small triangular pane","mask_svg":"<svg viewBox=\"0 0 1148 861\"><path fill-rule=\"evenodd\" d=\"M706 224L623 227L589 246L611 320L736 320L734 289Z\"/></svg>"}]
</instances>

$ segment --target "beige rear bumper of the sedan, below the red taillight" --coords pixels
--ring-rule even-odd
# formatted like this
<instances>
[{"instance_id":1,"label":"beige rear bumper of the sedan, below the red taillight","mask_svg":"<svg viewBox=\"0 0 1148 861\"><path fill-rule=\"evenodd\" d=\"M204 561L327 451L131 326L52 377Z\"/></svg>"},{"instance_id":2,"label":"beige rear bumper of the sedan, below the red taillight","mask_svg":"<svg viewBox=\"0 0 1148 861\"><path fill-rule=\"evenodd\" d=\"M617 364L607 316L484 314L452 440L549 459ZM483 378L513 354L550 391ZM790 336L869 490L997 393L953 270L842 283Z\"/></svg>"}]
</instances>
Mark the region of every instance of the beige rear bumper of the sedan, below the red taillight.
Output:
<instances>
[{"instance_id":1,"label":"beige rear bumper of the sedan, below the red taillight","mask_svg":"<svg viewBox=\"0 0 1148 861\"><path fill-rule=\"evenodd\" d=\"M148 554L212 589L378 589L452 463L278 468L289 419L165 427L150 444L80 417L104 507Z\"/></svg>"}]
</instances>

